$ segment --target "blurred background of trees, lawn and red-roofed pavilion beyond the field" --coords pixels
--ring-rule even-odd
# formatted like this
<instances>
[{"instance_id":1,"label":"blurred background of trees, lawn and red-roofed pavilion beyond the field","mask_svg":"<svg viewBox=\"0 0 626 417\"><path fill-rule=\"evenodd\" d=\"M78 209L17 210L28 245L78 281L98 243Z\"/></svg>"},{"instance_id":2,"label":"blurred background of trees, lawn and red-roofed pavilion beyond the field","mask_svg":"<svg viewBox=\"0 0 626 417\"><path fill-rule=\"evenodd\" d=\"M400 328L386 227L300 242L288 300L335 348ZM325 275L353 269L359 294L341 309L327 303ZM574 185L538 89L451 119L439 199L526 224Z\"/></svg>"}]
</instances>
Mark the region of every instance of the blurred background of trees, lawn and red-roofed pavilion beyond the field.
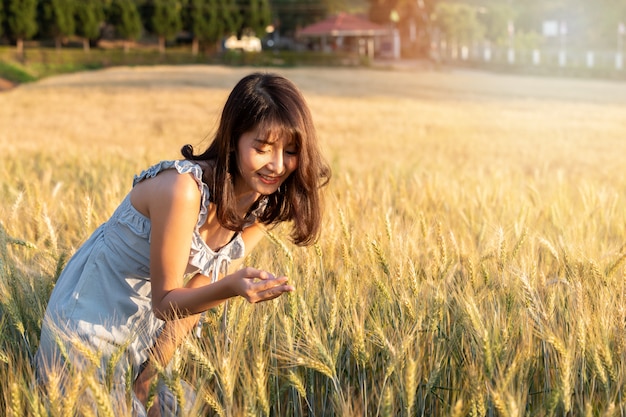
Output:
<instances>
[{"instance_id":1,"label":"blurred background of trees, lawn and red-roofed pavilion beyond the field","mask_svg":"<svg viewBox=\"0 0 626 417\"><path fill-rule=\"evenodd\" d=\"M154 63L623 78L625 22L616 0L2 0L0 78Z\"/></svg>"}]
</instances>

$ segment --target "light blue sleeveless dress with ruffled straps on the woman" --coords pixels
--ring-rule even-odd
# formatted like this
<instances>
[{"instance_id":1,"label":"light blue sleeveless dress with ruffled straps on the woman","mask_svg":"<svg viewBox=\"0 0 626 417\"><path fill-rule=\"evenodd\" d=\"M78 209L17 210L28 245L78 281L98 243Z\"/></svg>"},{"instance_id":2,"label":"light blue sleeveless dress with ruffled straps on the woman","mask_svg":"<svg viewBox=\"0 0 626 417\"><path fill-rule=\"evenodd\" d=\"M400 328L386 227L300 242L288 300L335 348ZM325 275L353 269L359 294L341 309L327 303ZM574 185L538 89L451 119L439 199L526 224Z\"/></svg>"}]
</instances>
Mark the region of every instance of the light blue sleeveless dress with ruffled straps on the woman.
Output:
<instances>
[{"instance_id":1,"label":"light blue sleeveless dress with ruffled straps on the woman","mask_svg":"<svg viewBox=\"0 0 626 417\"><path fill-rule=\"evenodd\" d=\"M217 252L201 238L199 228L208 214L209 187L202 181L201 167L192 161L159 162L135 176L133 186L166 169L191 174L201 192L186 276L201 273L215 281L231 260L243 257L241 234L235 234ZM250 214L247 225L262 209L261 204ZM132 206L129 193L69 260L52 291L42 323L36 361L44 380L46 372L59 365L94 371L100 381L112 377L114 382L123 383L127 372L132 372L133 381L137 377L164 324L152 313L150 229L150 219ZM113 375L109 369L107 377L110 359L114 355L117 359L120 351L123 354Z\"/></svg>"}]
</instances>

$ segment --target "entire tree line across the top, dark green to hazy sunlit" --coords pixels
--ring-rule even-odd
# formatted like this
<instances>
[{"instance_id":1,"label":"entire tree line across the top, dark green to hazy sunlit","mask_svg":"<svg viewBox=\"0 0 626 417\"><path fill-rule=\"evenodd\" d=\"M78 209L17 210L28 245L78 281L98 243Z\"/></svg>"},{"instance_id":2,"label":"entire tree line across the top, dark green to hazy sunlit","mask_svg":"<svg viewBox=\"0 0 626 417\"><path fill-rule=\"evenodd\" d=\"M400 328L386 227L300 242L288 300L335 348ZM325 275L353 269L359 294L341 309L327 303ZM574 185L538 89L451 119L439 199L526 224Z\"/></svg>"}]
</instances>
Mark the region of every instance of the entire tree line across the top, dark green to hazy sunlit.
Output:
<instances>
[{"instance_id":1,"label":"entire tree line across the top, dark green to hazy sunlit","mask_svg":"<svg viewBox=\"0 0 626 417\"><path fill-rule=\"evenodd\" d=\"M340 11L361 11L399 30L403 55L426 55L433 41L539 47L549 42L542 24L552 21L551 42L574 48L614 48L624 35L626 0L0 0L0 39L80 38L85 49L103 29L125 48L145 34L159 48L185 32L194 54L231 34L297 28ZM620 33L620 30L622 31Z\"/></svg>"}]
</instances>

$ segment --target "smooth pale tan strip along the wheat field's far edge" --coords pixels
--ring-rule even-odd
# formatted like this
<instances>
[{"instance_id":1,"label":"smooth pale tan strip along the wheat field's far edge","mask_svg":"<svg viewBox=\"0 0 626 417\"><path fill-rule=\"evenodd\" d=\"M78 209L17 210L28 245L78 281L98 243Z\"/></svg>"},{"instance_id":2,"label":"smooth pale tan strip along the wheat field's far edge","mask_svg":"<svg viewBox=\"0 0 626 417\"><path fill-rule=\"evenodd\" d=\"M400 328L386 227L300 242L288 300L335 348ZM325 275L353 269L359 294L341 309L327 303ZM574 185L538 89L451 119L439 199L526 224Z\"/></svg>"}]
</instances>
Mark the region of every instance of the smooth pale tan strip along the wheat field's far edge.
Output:
<instances>
[{"instance_id":1,"label":"smooth pale tan strip along the wheat field's far edge","mask_svg":"<svg viewBox=\"0 0 626 417\"><path fill-rule=\"evenodd\" d=\"M230 90L242 76L253 71L279 72L292 79L306 94L331 97L626 104L626 83L623 82L423 68L231 68L209 65L116 67L58 75L24 84L20 88Z\"/></svg>"}]
</instances>

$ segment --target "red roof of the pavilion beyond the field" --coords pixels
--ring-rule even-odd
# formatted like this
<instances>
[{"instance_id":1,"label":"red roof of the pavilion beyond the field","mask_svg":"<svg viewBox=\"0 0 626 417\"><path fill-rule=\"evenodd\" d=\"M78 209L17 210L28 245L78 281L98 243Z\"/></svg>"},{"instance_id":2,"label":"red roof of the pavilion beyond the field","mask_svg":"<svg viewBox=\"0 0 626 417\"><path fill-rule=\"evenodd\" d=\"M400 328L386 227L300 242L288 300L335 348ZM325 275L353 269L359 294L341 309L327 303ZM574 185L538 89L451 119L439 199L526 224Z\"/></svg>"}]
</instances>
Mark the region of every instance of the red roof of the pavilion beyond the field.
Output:
<instances>
[{"instance_id":1,"label":"red roof of the pavilion beyond the field","mask_svg":"<svg viewBox=\"0 0 626 417\"><path fill-rule=\"evenodd\" d=\"M359 36L388 33L384 26L358 16L340 13L321 22L313 23L298 32L300 36Z\"/></svg>"}]
</instances>

